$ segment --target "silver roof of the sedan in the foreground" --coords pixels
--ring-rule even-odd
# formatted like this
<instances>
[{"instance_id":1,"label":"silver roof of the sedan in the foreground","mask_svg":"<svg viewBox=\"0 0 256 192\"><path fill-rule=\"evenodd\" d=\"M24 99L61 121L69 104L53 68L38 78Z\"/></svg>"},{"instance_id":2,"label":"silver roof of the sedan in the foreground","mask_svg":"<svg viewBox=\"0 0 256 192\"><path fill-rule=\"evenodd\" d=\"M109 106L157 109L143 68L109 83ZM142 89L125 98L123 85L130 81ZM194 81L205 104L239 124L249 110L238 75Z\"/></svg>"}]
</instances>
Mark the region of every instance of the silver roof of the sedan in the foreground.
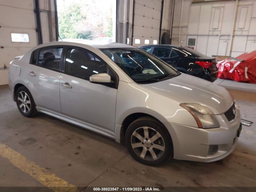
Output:
<instances>
[{"instance_id":1,"label":"silver roof of the sedan in the foreground","mask_svg":"<svg viewBox=\"0 0 256 192\"><path fill-rule=\"evenodd\" d=\"M72 43L70 45L74 46L74 44L77 44L77 46L83 44L87 46L91 46L94 48L137 48L128 44L122 44L122 43L112 43L112 42L100 42L100 41L92 41L92 40L85 40L85 39L63 39L62 41L54 41L50 43L42 44L42 46L52 46L52 45L69 45L69 43Z\"/></svg>"}]
</instances>

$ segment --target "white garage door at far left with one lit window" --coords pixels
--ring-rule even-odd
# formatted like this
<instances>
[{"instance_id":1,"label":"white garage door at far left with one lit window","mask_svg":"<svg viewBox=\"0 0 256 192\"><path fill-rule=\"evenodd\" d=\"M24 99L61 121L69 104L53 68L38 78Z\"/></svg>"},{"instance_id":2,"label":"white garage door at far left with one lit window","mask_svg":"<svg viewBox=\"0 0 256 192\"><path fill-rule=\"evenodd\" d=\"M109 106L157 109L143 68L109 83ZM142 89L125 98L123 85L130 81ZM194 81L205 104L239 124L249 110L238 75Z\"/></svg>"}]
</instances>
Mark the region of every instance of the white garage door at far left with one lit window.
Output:
<instances>
[{"instance_id":1,"label":"white garage door at far left with one lit window","mask_svg":"<svg viewBox=\"0 0 256 192\"><path fill-rule=\"evenodd\" d=\"M18 3L19 2L19 3ZM34 0L0 0L0 85L8 84L8 69L15 56L37 45Z\"/></svg>"}]
</instances>

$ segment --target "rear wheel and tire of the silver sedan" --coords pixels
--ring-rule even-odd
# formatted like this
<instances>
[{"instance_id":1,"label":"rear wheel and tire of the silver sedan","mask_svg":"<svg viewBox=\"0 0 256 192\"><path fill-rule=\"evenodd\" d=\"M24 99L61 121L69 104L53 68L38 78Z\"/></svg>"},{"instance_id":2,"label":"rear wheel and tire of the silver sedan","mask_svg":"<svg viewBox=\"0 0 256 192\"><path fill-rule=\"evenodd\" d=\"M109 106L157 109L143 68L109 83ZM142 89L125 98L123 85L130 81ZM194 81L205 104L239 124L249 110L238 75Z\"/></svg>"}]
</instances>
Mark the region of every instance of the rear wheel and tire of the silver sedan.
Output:
<instances>
[{"instance_id":1,"label":"rear wheel and tire of the silver sedan","mask_svg":"<svg viewBox=\"0 0 256 192\"><path fill-rule=\"evenodd\" d=\"M22 115L25 117L34 117L37 114L34 99L25 86L21 86L16 91L16 104Z\"/></svg>"}]
</instances>

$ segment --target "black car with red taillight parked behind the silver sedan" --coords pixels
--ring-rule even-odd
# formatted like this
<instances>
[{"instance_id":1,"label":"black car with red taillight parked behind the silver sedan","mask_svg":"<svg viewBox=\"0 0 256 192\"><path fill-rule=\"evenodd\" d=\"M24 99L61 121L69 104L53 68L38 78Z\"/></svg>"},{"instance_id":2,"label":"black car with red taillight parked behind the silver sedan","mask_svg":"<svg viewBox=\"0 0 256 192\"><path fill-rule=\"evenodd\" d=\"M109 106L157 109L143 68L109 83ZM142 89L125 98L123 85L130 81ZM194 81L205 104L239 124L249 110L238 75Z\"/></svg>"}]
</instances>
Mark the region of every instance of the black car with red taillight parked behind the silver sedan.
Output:
<instances>
[{"instance_id":1,"label":"black car with red taillight parked behind the silver sedan","mask_svg":"<svg viewBox=\"0 0 256 192\"><path fill-rule=\"evenodd\" d=\"M180 72L210 82L217 79L216 58L208 57L188 47L176 45L149 45L140 48L162 59Z\"/></svg>"}]
</instances>

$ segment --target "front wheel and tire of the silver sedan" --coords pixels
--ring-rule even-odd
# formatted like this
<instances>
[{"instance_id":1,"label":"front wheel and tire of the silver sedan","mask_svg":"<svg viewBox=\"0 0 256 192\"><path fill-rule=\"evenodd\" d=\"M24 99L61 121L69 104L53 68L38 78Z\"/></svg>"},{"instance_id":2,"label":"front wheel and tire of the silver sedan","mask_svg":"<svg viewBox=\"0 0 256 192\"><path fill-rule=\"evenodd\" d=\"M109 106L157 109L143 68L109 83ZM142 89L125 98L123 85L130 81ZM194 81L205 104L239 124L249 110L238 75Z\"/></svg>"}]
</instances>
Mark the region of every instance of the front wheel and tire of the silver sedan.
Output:
<instances>
[{"instance_id":1,"label":"front wheel and tire of the silver sedan","mask_svg":"<svg viewBox=\"0 0 256 192\"><path fill-rule=\"evenodd\" d=\"M173 156L172 138L163 124L144 116L130 124L125 134L130 155L138 162L156 166Z\"/></svg>"}]
</instances>

